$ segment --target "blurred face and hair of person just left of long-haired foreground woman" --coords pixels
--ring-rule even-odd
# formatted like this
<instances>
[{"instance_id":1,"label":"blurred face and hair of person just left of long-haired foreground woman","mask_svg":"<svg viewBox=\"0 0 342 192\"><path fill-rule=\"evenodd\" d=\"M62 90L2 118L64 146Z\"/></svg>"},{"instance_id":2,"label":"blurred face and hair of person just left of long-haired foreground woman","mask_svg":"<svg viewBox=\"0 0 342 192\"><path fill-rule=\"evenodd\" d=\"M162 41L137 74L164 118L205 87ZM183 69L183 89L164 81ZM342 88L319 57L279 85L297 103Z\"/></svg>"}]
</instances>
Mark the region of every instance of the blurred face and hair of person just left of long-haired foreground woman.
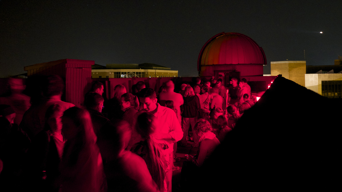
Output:
<instances>
[{"instance_id":1,"label":"blurred face and hair of person just left of long-haired foreground woman","mask_svg":"<svg viewBox=\"0 0 342 192\"><path fill-rule=\"evenodd\" d=\"M63 112L61 106L58 104L51 105L45 113L45 131L51 131L53 133L61 132L62 127L58 126L61 124L61 117Z\"/></svg>"}]
</instances>

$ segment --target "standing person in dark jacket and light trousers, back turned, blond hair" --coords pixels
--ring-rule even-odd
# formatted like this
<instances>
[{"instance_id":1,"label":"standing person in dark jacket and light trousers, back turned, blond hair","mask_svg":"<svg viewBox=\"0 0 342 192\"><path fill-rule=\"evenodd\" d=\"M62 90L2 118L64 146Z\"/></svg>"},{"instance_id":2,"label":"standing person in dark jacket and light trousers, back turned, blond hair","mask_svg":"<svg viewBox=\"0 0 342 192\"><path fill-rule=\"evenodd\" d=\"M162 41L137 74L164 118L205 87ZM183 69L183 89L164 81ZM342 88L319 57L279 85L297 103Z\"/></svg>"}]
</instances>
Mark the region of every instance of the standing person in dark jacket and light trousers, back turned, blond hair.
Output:
<instances>
[{"instance_id":1,"label":"standing person in dark jacket and light trousers, back turned, blond hair","mask_svg":"<svg viewBox=\"0 0 342 192\"><path fill-rule=\"evenodd\" d=\"M199 98L197 95L195 95L194 90L192 87L187 86L185 88L185 94L184 94L184 104L183 108L184 111L182 113L182 130L183 130L183 138L181 140L182 146L186 146L188 136L188 130L189 126L191 126L193 132L193 127L195 126L199 114L199 110L201 109L201 105L199 102ZM198 137L194 133L194 146L198 146Z\"/></svg>"}]
</instances>

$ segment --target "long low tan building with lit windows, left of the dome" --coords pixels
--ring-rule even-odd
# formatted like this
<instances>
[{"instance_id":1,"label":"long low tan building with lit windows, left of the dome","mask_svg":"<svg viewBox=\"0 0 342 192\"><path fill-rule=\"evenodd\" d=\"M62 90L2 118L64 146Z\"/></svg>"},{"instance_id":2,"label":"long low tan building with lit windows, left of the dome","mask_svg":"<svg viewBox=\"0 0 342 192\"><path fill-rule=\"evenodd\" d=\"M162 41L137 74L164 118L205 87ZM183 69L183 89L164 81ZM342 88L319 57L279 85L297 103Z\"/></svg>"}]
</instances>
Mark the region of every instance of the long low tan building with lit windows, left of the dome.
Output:
<instances>
[{"instance_id":1,"label":"long low tan building with lit windows, left of the dome","mask_svg":"<svg viewBox=\"0 0 342 192\"><path fill-rule=\"evenodd\" d=\"M102 69L101 69L102 68ZM92 78L178 77L178 71L156 64L107 64L94 66Z\"/></svg>"}]
</instances>

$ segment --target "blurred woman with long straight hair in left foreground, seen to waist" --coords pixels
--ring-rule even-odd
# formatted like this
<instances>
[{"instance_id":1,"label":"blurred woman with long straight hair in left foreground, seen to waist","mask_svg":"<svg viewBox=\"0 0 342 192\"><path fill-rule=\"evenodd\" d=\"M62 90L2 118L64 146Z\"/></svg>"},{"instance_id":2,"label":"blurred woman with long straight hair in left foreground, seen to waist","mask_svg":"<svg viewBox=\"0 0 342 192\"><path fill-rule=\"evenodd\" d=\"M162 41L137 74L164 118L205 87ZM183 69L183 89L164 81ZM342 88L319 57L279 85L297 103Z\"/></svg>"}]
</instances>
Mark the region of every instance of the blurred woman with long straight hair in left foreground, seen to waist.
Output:
<instances>
[{"instance_id":1,"label":"blurred woman with long straight hair in left foreground, seen to waist","mask_svg":"<svg viewBox=\"0 0 342 192\"><path fill-rule=\"evenodd\" d=\"M64 111L62 122L67 141L60 166L61 191L106 191L102 157L89 112L69 108Z\"/></svg>"}]
</instances>

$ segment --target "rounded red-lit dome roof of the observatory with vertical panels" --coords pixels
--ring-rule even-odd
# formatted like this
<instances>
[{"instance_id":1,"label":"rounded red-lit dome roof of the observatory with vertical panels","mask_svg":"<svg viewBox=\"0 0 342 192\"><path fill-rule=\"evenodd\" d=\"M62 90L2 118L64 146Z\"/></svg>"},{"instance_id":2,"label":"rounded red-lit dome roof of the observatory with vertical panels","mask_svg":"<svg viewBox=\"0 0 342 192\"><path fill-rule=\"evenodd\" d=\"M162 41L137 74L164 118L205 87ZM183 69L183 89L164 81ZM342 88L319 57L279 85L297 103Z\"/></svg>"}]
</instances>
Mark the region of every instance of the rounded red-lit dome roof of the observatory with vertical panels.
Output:
<instances>
[{"instance_id":1,"label":"rounded red-lit dome roof of the observatory with vertical panels","mask_svg":"<svg viewBox=\"0 0 342 192\"><path fill-rule=\"evenodd\" d=\"M260 64L266 65L264 50L241 33L219 33L209 39L198 56L197 68L203 65Z\"/></svg>"}]
</instances>

